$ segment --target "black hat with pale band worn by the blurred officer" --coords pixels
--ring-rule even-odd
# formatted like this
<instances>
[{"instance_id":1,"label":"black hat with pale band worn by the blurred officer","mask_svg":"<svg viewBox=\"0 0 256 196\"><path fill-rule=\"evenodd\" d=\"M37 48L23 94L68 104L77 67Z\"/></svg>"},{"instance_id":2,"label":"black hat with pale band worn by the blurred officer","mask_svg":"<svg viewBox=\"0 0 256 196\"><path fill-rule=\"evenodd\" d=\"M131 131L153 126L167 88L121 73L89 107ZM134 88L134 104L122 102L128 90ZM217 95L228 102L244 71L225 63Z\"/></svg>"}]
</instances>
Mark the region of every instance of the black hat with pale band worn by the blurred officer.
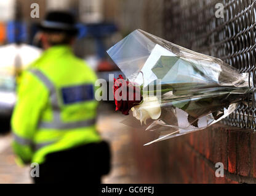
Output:
<instances>
[{"instance_id":1,"label":"black hat with pale band worn by the blurred officer","mask_svg":"<svg viewBox=\"0 0 256 196\"><path fill-rule=\"evenodd\" d=\"M46 32L66 32L75 36L78 33L74 16L68 12L52 11L46 14L39 28Z\"/></svg>"}]
</instances>

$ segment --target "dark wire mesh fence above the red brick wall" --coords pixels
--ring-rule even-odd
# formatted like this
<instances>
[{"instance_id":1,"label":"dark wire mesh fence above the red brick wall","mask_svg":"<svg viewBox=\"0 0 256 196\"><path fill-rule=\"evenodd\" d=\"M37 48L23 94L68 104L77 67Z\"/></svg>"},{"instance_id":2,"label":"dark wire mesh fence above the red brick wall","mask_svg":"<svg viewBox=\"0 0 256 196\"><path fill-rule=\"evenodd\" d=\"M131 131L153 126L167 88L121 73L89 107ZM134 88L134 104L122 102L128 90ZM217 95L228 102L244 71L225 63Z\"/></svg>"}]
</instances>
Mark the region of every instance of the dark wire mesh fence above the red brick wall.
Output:
<instances>
[{"instance_id":1,"label":"dark wire mesh fence above the red brick wall","mask_svg":"<svg viewBox=\"0 0 256 196\"><path fill-rule=\"evenodd\" d=\"M223 18L217 18L216 4L223 5ZM165 0L165 39L191 50L215 56L250 72L254 85L247 102L223 123L256 127L256 1L253 0Z\"/></svg>"}]
</instances>

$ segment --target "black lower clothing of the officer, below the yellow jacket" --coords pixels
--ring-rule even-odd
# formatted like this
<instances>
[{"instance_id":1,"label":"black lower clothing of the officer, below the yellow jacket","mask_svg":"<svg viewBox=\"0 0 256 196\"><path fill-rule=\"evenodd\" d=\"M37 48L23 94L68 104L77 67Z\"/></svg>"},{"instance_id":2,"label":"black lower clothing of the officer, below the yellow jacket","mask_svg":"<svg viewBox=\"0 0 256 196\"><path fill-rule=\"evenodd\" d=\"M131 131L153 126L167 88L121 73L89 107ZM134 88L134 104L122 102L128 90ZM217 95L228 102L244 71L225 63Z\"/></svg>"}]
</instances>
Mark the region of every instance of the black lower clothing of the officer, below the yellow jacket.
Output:
<instances>
[{"instance_id":1,"label":"black lower clothing of the officer, below the yellow jacket","mask_svg":"<svg viewBox=\"0 0 256 196\"><path fill-rule=\"evenodd\" d=\"M101 183L101 176L110 171L108 143L90 143L76 148L50 153L39 165L39 177L34 183Z\"/></svg>"}]
</instances>

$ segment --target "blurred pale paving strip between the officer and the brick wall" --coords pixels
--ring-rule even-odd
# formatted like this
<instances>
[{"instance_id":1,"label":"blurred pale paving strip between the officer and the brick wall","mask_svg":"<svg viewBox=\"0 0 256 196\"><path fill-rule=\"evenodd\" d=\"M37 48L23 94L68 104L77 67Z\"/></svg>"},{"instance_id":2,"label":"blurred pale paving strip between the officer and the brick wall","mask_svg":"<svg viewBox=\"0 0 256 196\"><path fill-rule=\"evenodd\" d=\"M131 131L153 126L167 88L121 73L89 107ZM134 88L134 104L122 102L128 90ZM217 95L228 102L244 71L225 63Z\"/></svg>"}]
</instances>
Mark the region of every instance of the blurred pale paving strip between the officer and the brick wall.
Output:
<instances>
[{"instance_id":1,"label":"blurred pale paving strip between the officer and the brick wall","mask_svg":"<svg viewBox=\"0 0 256 196\"><path fill-rule=\"evenodd\" d=\"M110 141L112 170L108 176L103 178L103 183L136 183L137 172L132 154L130 130L119 123L124 116L113 113L114 110L111 110L109 105L104 106L107 109L102 110L99 116L98 130L105 140Z\"/></svg>"}]
</instances>

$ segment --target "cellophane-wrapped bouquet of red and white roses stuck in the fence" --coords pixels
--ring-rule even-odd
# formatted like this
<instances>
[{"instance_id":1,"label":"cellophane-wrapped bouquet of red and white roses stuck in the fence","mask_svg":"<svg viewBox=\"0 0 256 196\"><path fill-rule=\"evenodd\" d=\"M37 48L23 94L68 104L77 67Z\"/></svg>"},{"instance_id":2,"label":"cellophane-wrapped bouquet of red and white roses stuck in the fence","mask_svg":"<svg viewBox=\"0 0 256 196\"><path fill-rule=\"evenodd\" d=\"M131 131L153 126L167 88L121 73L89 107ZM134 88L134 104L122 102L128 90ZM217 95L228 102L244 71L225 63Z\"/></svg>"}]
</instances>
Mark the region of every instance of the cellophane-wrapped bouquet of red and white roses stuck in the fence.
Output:
<instances>
[{"instance_id":1,"label":"cellophane-wrapped bouquet of red and white roses stuck in the fence","mask_svg":"<svg viewBox=\"0 0 256 196\"><path fill-rule=\"evenodd\" d=\"M107 53L126 78L113 87L116 110L130 113L122 123L159 132L146 145L217 123L250 92L248 73L140 29Z\"/></svg>"}]
</instances>

